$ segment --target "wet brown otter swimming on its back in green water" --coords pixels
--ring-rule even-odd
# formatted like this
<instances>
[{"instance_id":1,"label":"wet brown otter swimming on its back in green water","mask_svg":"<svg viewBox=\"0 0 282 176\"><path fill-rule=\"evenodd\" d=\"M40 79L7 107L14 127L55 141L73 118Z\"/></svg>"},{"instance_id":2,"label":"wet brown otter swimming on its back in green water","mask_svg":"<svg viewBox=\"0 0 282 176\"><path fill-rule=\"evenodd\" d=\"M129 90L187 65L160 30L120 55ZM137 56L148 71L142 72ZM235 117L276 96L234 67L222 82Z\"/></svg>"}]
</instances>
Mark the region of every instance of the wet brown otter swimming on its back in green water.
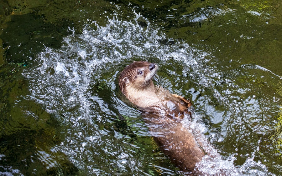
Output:
<instances>
[{"instance_id":1,"label":"wet brown otter swimming on its back in green water","mask_svg":"<svg viewBox=\"0 0 282 176\"><path fill-rule=\"evenodd\" d=\"M157 68L154 63L133 62L120 74L120 90L145 112L145 122L160 149L182 171L194 172L205 153L192 130L180 123L183 118L191 118L192 104L182 96L154 86L152 79Z\"/></svg>"}]
</instances>

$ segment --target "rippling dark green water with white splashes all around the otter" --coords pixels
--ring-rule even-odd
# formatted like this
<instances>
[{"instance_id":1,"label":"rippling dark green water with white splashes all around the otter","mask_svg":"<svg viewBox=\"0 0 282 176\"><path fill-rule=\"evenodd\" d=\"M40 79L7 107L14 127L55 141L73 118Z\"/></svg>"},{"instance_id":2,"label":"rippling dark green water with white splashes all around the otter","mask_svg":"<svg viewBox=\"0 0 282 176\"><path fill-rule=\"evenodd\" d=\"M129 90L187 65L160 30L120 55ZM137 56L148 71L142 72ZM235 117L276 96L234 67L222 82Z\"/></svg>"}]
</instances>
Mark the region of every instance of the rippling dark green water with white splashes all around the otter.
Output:
<instances>
[{"instance_id":1,"label":"rippling dark green water with white splashes all around the otter","mask_svg":"<svg viewBox=\"0 0 282 176\"><path fill-rule=\"evenodd\" d=\"M117 87L148 60L223 159L281 175L280 1L0 5L1 174L183 174Z\"/></svg>"}]
</instances>

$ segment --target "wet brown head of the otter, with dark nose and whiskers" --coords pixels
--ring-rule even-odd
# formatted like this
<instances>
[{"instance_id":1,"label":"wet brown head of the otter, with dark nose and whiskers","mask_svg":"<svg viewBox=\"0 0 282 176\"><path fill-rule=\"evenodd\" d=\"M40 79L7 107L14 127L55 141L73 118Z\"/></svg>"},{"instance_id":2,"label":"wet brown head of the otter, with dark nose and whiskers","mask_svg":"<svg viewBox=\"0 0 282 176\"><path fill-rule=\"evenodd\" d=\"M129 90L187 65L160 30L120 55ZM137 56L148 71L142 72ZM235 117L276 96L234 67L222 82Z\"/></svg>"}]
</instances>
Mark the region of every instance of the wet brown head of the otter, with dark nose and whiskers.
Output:
<instances>
[{"instance_id":1,"label":"wet brown head of the otter, with dark nose and whiskers","mask_svg":"<svg viewBox=\"0 0 282 176\"><path fill-rule=\"evenodd\" d=\"M137 61L128 65L118 79L119 88L130 100L136 93L151 91L154 89L153 77L157 71L157 65L146 61ZM153 90L152 89L152 90Z\"/></svg>"}]
</instances>

